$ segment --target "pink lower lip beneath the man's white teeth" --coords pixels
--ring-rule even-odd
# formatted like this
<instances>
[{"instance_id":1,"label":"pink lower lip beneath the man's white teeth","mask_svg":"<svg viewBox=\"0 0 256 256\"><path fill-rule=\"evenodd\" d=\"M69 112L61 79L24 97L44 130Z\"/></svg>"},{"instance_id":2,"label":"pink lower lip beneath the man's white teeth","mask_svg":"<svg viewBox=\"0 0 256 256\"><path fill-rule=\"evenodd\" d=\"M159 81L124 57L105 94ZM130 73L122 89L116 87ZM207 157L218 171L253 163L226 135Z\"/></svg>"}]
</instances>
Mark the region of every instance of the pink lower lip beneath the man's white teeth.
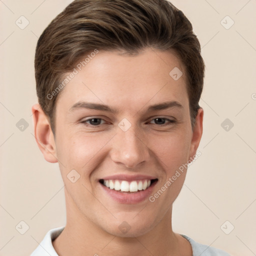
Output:
<instances>
[{"instance_id":1,"label":"pink lower lip beneath the man's white teeth","mask_svg":"<svg viewBox=\"0 0 256 256\"><path fill-rule=\"evenodd\" d=\"M99 182L101 187L111 198L119 203L125 204L139 203L144 201L145 199L148 199L156 183L157 181L155 181L145 190L138 190L137 192L120 192L120 190L116 191L114 189L110 189Z\"/></svg>"}]
</instances>

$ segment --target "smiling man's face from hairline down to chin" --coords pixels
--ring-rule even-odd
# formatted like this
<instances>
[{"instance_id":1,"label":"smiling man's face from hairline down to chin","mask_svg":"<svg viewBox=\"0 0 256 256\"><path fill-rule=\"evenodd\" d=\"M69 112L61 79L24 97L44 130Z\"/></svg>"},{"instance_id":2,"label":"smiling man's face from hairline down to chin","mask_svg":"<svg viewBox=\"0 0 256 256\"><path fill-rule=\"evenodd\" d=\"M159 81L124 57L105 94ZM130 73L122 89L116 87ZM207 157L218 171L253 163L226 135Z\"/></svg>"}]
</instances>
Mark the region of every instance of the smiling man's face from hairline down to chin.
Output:
<instances>
[{"instance_id":1,"label":"smiling man's face from hairline down to chin","mask_svg":"<svg viewBox=\"0 0 256 256\"><path fill-rule=\"evenodd\" d=\"M179 79L169 74L174 67ZM135 56L99 51L76 69L56 102L67 214L113 235L142 235L170 212L186 169L172 176L200 140L184 68L174 52L146 48Z\"/></svg>"}]
</instances>

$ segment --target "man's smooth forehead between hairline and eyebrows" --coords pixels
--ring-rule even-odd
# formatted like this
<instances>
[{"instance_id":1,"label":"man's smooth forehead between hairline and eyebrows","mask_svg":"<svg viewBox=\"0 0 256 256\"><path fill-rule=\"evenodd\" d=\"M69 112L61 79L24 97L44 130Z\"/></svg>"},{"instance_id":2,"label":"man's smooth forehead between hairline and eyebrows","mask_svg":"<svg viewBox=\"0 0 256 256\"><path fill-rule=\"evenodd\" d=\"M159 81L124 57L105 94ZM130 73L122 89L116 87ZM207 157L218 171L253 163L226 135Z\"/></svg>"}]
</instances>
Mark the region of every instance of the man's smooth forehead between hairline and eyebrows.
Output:
<instances>
[{"instance_id":1,"label":"man's smooth forehead between hairline and eyebrows","mask_svg":"<svg viewBox=\"0 0 256 256\"><path fill-rule=\"evenodd\" d=\"M83 57L73 73L58 97L69 107L79 101L136 110L159 100L187 103L185 71L174 51L146 48L137 55L98 51Z\"/></svg>"}]
</instances>

